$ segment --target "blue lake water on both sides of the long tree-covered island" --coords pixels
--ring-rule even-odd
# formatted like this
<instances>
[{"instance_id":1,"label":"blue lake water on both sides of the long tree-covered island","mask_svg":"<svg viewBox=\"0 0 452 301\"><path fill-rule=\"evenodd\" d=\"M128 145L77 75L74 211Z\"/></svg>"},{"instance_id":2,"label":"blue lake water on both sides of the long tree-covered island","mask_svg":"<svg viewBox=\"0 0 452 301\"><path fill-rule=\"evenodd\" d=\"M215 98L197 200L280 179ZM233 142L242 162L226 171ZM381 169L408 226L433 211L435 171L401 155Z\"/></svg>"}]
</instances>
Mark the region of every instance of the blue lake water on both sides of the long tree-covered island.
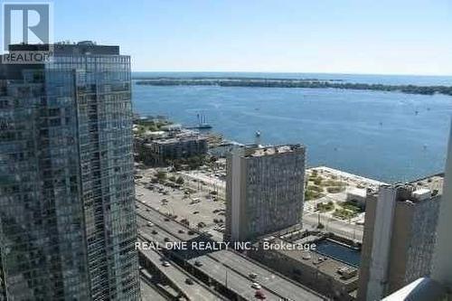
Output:
<instances>
[{"instance_id":1,"label":"blue lake water on both sides of the long tree-covered island","mask_svg":"<svg viewBox=\"0 0 452 301\"><path fill-rule=\"evenodd\" d=\"M452 85L451 77L297 75L321 76L350 82ZM413 180L443 170L452 114L452 97L444 95L351 89L134 84L133 103L138 113L166 115L184 125L195 124L196 114L203 113L213 131L240 143L254 142L257 130L264 144L301 143L307 147L310 166L327 165L385 182Z\"/></svg>"}]
</instances>

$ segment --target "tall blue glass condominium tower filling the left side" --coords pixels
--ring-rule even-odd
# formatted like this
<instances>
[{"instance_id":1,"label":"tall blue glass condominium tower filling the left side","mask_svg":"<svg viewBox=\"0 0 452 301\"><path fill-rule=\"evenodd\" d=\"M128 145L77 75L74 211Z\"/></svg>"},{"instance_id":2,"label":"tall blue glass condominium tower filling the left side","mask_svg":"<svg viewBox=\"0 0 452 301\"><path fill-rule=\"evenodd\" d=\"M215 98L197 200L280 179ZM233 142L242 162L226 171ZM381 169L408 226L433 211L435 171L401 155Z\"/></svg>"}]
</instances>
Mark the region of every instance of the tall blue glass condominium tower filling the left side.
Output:
<instances>
[{"instance_id":1,"label":"tall blue glass condominium tower filling the left side","mask_svg":"<svg viewBox=\"0 0 452 301\"><path fill-rule=\"evenodd\" d=\"M130 57L0 67L0 300L139 300Z\"/></svg>"}]
</instances>

